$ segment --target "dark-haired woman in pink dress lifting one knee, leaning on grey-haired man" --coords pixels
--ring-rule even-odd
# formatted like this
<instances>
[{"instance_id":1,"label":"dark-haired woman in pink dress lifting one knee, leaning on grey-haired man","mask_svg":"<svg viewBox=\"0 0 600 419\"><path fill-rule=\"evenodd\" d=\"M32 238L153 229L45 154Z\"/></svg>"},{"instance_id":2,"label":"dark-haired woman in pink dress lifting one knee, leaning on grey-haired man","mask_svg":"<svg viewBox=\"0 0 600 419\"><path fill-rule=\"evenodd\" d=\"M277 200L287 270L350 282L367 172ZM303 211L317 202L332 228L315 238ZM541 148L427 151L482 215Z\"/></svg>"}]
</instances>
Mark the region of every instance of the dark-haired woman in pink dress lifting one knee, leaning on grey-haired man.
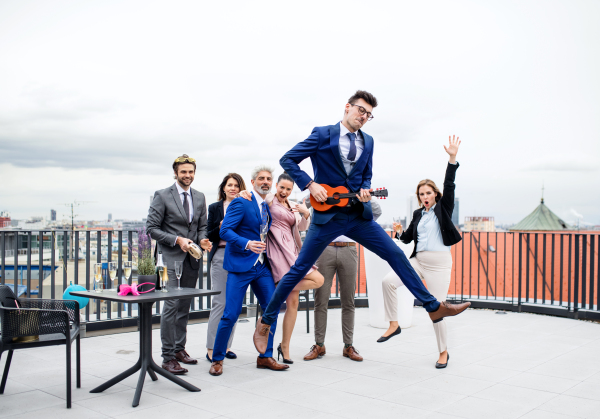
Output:
<instances>
[{"instance_id":1,"label":"dark-haired woman in pink dress lifting one knee, leaning on grey-haired man","mask_svg":"<svg viewBox=\"0 0 600 419\"><path fill-rule=\"evenodd\" d=\"M271 273L277 284L289 272L296 262L302 240L300 231L305 231L310 225L310 211L304 203L295 204L288 200L294 189L294 181L287 173L282 173L275 184L275 194L269 194L265 201L269 205L273 221L267 234L267 258L271 264ZM247 191L240 194L248 199ZM313 266L304 279L296 285L288 296L285 316L283 317L283 337L277 348L277 360L283 357L283 362L293 364L290 358L290 340L298 316L300 291L310 290L323 285L323 275Z\"/></svg>"}]
</instances>

